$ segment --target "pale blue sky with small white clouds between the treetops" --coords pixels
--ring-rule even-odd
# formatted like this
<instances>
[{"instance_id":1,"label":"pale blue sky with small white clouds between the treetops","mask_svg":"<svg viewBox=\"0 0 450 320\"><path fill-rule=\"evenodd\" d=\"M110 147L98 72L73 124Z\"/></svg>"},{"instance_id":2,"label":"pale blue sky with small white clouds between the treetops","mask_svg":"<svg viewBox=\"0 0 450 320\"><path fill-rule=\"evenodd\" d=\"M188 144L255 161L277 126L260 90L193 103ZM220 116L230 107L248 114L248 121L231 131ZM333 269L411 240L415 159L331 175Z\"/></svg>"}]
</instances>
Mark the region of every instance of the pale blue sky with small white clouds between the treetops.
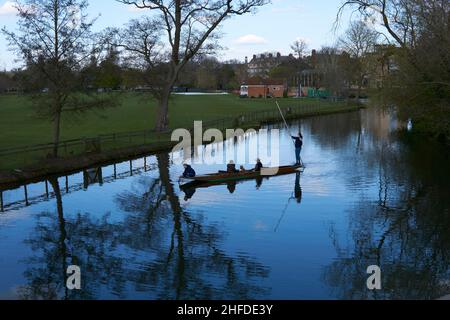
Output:
<instances>
[{"instance_id":1,"label":"pale blue sky with small white clouds between the treetops","mask_svg":"<svg viewBox=\"0 0 450 320\"><path fill-rule=\"evenodd\" d=\"M333 44L338 36L333 32L333 22L342 0L272 0L272 4L260 8L256 14L233 17L221 28L221 45L226 49L219 53L221 60L239 59L265 51L290 53L290 44L298 38L305 39L310 49ZM108 26L121 26L131 18L147 11L133 10L114 0L91 0L92 16L101 14L95 30ZM349 14L344 16L341 32L345 29ZM15 13L11 1L0 0L0 26L13 29ZM7 42L0 35L0 68L17 66L8 51Z\"/></svg>"}]
</instances>

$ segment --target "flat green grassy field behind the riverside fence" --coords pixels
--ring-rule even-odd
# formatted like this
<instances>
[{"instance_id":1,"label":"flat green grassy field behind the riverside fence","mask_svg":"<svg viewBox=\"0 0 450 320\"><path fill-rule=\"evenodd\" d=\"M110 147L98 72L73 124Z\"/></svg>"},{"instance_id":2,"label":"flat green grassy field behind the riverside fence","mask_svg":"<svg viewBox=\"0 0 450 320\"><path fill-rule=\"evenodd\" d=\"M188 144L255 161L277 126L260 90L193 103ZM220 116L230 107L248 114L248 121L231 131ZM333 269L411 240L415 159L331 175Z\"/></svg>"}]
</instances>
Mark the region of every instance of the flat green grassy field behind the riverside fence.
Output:
<instances>
[{"instance_id":1,"label":"flat green grassy field behind the riverside fence","mask_svg":"<svg viewBox=\"0 0 450 320\"><path fill-rule=\"evenodd\" d=\"M123 94L119 106L64 117L62 140L96 137L100 134L138 131L153 128L156 101L140 94ZM316 99L280 99L283 106L320 105L335 108L336 103ZM171 128L191 127L194 120L212 120L242 113L276 110L272 99L240 99L232 95L173 96L170 102ZM36 117L27 97L0 95L0 150L52 142L52 126Z\"/></svg>"}]
</instances>

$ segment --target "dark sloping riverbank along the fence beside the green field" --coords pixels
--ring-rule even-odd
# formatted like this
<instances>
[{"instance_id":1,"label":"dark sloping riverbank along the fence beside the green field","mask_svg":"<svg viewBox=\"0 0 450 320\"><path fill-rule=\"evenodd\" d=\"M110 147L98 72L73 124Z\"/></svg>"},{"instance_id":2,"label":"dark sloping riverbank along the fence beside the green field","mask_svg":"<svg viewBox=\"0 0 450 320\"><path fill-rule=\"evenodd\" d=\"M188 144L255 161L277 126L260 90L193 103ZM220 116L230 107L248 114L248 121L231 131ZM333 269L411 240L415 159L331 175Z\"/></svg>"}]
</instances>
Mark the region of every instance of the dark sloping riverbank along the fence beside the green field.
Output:
<instances>
[{"instance_id":1,"label":"dark sloping riverbank along the fence beside the green field","mask_svg":"<svg viewBox=\"0 0 450 320\"><path fill-rule=\"evenodd\" d=\"M293 100L293 99L288 99ZM261 103L262 101L256 101L256 103ZM286 107L288 101L282 101L284 107L283 111L287 119L297 119L303 117L311 117L322 114L331 113L341 113L341 112L351 112L358 110L360 106L358 105L346 105L346 104L323 104L316 106L297 105ZM254 103L253 101L244 101L244 103ZM267 101L265 101L267 103ZM273 101L271 101L273 104ZM297 103L299 103L297 101ZM304 103L304 102L300 102ZM227 128L240 127L243 129L247 128L258 128L263 123L278 122L280 120L278 111L272 109L270 111L259 110L253 113L240 113L237 117L227 117L222 119L210 120L208 123L209 127L219 128L225 130ZM198 118L197 118L198 119ZM192 127L192 124L191 124ZM159 135L158 137L152 134L147 134L150 136L149 140L145 140L144 131L144 142L138 143L137 140L128 140L121 145L115 145L113 147L111 144L110 149L106 147L106 143L103 144L97 151L94 152L84 152L81 154L70 154L66 152L66 156L59 159L46 159L44 157L38 158L36 153L32 153L35 158L32 158L30 164L22 165L22 163L29 163L27 157L14 156L9 160L9 168L0 170L0 188L6 188L10 185L21 184L25 182L32 182L34 180L39 180L42 177L50 175L61 175L65 173L70 173L73 171L83 170L89 167L102 166L114 161L128 160L135 157L155 154L162 151L170 151L174 142L170 141L170 133ZM136 134L137 137L142 139L141 134ZM146 141L146 142L145 142ZM132 142L135 144L133 145ZM24 152L27 152L25 149ZM11 157L11 156L10 156ZM27 161L25 161L25 159ZM11 162L12 161L12 162ZM14 163L14 167L11 164ZM3 157L2 162L3 168L8 166L8 161L6 157ZM17 169L20 168L20 169Z\"/></svg>"}]
</instances>

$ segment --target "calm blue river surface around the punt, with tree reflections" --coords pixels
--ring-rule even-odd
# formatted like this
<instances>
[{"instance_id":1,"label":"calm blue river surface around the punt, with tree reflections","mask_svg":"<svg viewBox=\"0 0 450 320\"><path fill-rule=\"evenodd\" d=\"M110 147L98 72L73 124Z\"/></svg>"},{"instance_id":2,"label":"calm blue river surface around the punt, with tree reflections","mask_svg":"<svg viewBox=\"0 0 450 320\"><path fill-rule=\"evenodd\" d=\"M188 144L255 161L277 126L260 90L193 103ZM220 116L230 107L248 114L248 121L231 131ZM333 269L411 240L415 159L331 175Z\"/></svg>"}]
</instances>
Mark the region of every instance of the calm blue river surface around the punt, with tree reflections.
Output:
<instances>
[{"instance_id":1,"label":"calm blue river surface around the punt, with tree reflections","mask_svg":"<svg viewBox=\"0 0 450 320\"><path fill-rule=\"evenodd\" d=\"M387 112L291 123L301 174L180 190L158 155L2 192L2 299L435 299L450 293L448 154ZM240 150L254 136L226 144ZM293 161L281 135L281 162ZM249 163L253 159L249 159ZM130 172L130 165L132 171ZM219 169L196 166L198 173ZM82 290L65 289L69 265ZM367 290L379 265L383 289Z\"/></svg>"}]
</instances>

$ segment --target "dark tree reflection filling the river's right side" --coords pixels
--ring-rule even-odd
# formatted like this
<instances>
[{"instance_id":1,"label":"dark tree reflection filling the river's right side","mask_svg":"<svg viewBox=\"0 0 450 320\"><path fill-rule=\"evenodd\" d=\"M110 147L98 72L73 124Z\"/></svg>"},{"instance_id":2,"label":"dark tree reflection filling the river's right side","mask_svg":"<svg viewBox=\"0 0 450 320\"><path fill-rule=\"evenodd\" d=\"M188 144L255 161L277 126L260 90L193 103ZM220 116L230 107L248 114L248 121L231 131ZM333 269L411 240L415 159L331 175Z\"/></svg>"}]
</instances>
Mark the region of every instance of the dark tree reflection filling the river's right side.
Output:
<instances>
[{"instance_id":1,"label":"dark tree reflection filling the river's right side","mask_svg":"<svg viewBox=\"0 0 450 320\"><path fill-rule=\"evenodd\" d=\"M436 299L450 292L450 183L448 159L427 143L373 148L380 159L379 199L362 198L350 212L351 240L324 281L341 299ZM366 159L367 160L367 159ZM349 164L352 165L352 164ZM354 164L353 164L354 165ZM383 290L369 292L366 269L382 268Z\"/></svg>"}]
</instances>

